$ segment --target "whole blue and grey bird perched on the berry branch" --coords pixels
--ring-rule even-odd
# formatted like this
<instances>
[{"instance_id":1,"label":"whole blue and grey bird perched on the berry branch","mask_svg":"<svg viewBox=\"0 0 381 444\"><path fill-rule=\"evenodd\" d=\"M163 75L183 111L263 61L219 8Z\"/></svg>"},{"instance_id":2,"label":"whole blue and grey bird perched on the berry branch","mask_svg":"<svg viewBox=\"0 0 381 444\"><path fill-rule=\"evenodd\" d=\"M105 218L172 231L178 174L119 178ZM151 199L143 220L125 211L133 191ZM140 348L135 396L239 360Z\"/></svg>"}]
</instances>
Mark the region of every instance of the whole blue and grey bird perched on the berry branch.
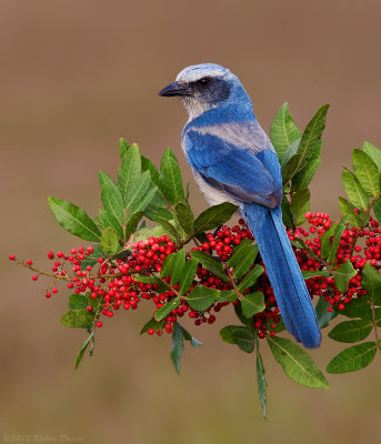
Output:
<instances>
[{"instance_id":1,"label":"whole blue and grey bird perched on the berry branch","mask_svg":"<svg viewBox=\"0 0 381 444\"><path fill-rule=\"evenodd\" d=\"M201 193L210 205L239 206L287 330L305 347L318 347L317 314L282 222L279 160L241 82L223 67L202 63L182 70L159 95L182 99L189 120L181 145Z\"/></svg>"}]
</instances>

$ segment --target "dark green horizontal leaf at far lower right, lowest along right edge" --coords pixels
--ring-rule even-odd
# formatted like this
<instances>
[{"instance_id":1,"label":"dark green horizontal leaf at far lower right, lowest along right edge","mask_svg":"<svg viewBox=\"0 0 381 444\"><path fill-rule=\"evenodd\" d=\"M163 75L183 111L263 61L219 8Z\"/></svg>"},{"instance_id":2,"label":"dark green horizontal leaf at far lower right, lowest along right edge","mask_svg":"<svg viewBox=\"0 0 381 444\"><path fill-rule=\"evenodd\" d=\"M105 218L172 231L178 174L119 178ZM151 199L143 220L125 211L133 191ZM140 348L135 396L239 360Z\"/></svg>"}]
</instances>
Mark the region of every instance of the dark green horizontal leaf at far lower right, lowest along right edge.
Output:
<instances>
[{"instance_id":1,"label":"dark green horizontal leaf at far lower right, lowest along right edge","mask_svg":"<svg viewBox=\"0 0 381 444\"><path fill-rule=\"evenodd\" d=\"M375 342L363 342L345 349L327 365L328 373L348 373L364 369L375 355Z\"/></svg>"}]
</instances>

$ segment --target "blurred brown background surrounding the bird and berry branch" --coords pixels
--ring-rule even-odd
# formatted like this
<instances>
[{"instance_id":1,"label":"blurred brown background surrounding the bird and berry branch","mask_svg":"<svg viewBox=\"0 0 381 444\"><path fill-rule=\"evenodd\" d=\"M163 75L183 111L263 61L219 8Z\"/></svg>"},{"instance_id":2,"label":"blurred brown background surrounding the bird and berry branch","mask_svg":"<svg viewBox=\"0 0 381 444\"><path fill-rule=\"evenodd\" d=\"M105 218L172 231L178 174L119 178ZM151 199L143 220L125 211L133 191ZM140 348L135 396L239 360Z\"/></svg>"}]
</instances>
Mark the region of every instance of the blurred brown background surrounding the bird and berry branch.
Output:
<instances>
[{"instance_id":1,"label":"blurred brown background surrounding the bird and berry branch","mask_svg":"<svg viewBox=\"0 0 381 444\"><path fill-rule=\"evenodd\" d=\"M59 323L66 292L47 301L42 282L7 259L14 252L47 266L49 249L81 244L54 222L47 196L94 214L98 170L116 175L121 135L157 163L172 147L191 180L179 143L186 113L157 93L200 62L240 77L267 131L284 101L302 128L331 103L312 209L338 215L351 150L363 140L381 145L380 17L377 0L0 2L0 440L381 442L380 356L359 373L329 375L330 391L313 391L289 381L265 351L263 421L253 356L219 339L229 313L191 329L204 345L187 344L178 376L169 337L139 336L150 316L142 304L107 321L96 355L74 372L84 335ZM192 192L201 211L193 183ZM312 355L323 369L343 347L325 339Z\"/></svg>"}]
</instances>

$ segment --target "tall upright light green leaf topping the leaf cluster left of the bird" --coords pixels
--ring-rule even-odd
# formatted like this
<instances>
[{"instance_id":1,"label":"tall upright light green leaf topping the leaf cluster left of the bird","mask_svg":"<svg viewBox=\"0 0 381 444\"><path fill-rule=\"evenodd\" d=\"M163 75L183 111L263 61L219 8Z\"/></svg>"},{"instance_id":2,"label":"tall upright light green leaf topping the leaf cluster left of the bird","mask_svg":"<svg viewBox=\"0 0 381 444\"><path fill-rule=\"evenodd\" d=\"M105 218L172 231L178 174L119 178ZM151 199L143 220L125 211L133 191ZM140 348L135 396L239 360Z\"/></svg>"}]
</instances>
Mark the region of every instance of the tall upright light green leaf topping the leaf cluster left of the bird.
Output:
<instances>
[{"instance_id":1,"label":"tall upright light green leaf topping the leaf cluster left of the bird","mask_svg":"<svg viewBox=\"0 0 381 444\"><path fill-rule=\"evenodd\" d=\"M132 144L122 159L118 174L118 188L124 205L127 203L127 195L133 194L133 190L139 185L140 176L141 158L139 147Z\"/></svg>"}]
</instances>

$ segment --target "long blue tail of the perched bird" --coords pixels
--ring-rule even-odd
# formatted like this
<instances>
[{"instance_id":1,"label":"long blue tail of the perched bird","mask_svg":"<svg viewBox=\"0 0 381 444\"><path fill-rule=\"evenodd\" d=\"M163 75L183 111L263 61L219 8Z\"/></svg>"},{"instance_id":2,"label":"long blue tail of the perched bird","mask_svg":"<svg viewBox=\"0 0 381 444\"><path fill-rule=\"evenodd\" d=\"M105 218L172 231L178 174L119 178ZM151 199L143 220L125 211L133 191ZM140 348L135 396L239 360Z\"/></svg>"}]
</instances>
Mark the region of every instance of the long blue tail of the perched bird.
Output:
<instances>
[{"instance_id":1,"label":"long blue tail of the perched bird","mask_svg":"<svg viewBox=\"0 0 381 444\"><path fill-rule=\"evenodd\" d=\"M255 203L241 213L254 235L287 330L305 347L320 345L317 314L287 235L282 212Z\"/></svg>"}]
</instances>

